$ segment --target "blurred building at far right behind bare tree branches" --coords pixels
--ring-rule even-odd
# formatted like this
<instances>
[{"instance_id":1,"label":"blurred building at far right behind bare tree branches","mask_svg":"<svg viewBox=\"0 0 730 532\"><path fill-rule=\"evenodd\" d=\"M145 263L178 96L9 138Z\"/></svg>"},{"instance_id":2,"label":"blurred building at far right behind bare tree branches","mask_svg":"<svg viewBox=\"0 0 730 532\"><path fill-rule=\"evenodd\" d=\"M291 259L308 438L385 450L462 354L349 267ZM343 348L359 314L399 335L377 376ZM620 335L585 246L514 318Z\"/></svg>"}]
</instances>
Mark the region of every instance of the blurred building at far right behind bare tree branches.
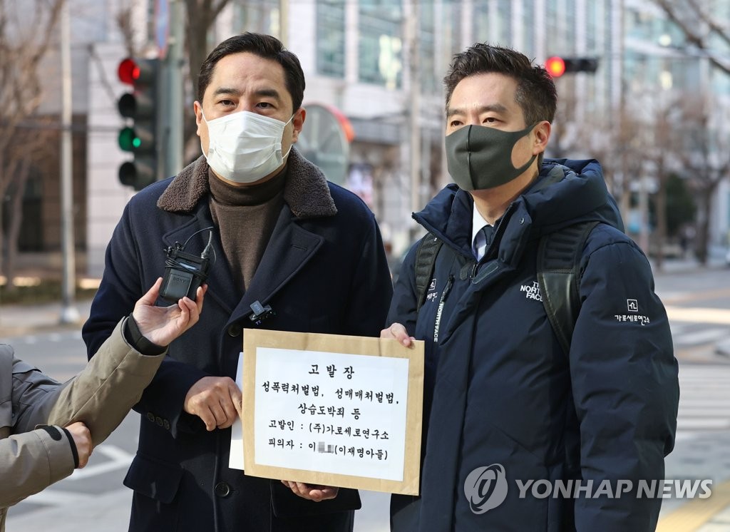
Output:
<instances>
[{"instance_id":1,"label":"blurred building at far right behind bare tree branches","mask_svg":"<svg viewBox=\"0 0 730 532\"><path fill-rule=\"evenodd\" d=\"M701 5L713 23L729 27L729 1L715 1L712 9ZM658 220L646 204L648 196L656 202L661 185L676 173L692 188L704 189L695 193L696 224L685 234L699 236L706 225L710 256L716 258L729 244L730 74L713 67L711 58L730 67L730 45L692 12L678 14L704 36L709 51L696 47L653 3L623 0L622 107L638 126L627 127L631 138L623 145L623 153L637 161L629 172L631 205L624 217L629 234L658 253L659 243L647 242ZM675 235L673 242L680 240Z\"/></svg>"}]
</instances>

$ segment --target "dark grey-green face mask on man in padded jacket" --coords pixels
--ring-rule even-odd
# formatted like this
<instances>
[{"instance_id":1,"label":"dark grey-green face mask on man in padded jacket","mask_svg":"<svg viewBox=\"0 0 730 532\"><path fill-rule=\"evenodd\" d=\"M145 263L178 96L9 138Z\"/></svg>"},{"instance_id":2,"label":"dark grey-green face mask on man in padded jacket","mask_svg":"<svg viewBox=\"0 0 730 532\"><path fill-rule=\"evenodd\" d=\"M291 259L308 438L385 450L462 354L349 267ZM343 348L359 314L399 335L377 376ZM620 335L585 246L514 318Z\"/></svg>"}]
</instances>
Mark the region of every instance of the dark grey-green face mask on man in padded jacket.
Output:
<instances>
[{"instance_id":1,"label":"dark grey-green face mask on man in padded jacket","mask_svg":"<svg viewBox=\"0 0 730 532\"><path fill-rule=\"evenodd\" d=\"M463 190L499 187L523 174L526 164L512 166L512 148L534 126L521 131L502 131L486 126L464 126L446 137L446 164L454 182Z\"/></svg>"}]
</instances>

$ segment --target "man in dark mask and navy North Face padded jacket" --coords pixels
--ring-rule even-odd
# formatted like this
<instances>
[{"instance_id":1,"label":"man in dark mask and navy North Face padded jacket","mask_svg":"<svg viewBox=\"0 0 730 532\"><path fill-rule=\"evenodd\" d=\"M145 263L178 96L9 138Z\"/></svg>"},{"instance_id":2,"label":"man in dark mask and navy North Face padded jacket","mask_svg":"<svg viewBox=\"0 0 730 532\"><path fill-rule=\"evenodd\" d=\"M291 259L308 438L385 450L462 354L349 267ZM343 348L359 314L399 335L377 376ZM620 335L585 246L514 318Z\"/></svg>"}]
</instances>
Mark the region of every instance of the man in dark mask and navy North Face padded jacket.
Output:
<instances>
[{"instance_id":1,"label":"man in dark mask and navy North Face padded jacket","mask_svg":"<svg viewBox=\"0 0 730 532\"><path fill-rule=\"evenodd\" d=\"M637 485L664 476L679 390L650 265L597 161L543 160L557 101L545 69L477 44L445 87L456 185L414 214L442 245L423 298L426 247L410 250L381 332L426 341L420 496L393 496L392 529L653 531L661 498ZM539 293L539 243L583 222L597 225L575 250L565 352Z\"/></svg>"}]
</instances>

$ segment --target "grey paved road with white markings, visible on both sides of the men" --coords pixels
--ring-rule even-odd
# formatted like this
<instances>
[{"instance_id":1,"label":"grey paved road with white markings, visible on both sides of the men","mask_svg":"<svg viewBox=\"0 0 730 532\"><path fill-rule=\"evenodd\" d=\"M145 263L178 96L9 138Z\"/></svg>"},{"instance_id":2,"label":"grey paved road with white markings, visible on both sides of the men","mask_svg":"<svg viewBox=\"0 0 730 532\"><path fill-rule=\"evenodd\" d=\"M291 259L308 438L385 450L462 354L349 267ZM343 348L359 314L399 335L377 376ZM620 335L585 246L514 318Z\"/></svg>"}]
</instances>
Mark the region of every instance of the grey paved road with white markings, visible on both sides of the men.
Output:
<instances>
[{"instance_id":1,"label":"grey paved road with white markings, visible on both sides of the men","mask_svg":"<svg viewBox=\"0 0 730 532\"><path fill-rule=\"evenodd\" d=\"M689 287L673 291L681 285L673 279L658 279L658 292L667 307L688 307L696 302L683 299L682 293ZM694 292L694 299L699 294L711 295L702 285L689 290ZM80 302L77 307L85 319L88 302ZM712 304L702 301L702 307L707 309ZM730 310L724 304L716 307L725 308L692 319L687 317L687 311L682 311L683 320L671 320L680 358L682 398L677 445L666 462L667 478L713 479L713 495L704 500L705 504L666 499L659 532L730 531L730 357L718 355L715 350L730 338ZM0 338L10 339L29 351L44 342L80 342L78 328L58 326L59 315L58 304L0 307ZM55 377L65 379L77 371L80 361L75 355L62 355L43 367ZM87 468L12 508L7 530L126 531L131 492L120 486L136 447L138 423L137 415L131 414L97 448ZM356 532L387 531L388 495L363 492L362 496L364 507L356 518Z\"/></svg>"}]
</instances>

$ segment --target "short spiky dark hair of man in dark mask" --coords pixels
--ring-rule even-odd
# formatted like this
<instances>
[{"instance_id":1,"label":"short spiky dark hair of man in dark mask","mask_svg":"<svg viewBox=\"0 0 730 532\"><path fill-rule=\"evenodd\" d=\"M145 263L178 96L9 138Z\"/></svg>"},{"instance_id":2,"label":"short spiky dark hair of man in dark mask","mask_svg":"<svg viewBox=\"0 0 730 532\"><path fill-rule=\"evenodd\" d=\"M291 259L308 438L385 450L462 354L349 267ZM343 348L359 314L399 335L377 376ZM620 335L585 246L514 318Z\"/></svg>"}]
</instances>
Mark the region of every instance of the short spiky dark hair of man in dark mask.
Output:
<instances>
[{"instance_id":1,"label":"short spiky dark hair of man in dark mask","mask_svg":"<svg viewBox=\"0 0 730 532\"><path fill-rule=\"evenodd\" d=\"M481 42L453 56L444 77L446 109L458 82L475 74L492 72L512 77L517 82L515 101L522 109L526 126L542 120L553 122L558 91L548 71L534 65L523 53Z\"/></svg>"}]
</instances>

